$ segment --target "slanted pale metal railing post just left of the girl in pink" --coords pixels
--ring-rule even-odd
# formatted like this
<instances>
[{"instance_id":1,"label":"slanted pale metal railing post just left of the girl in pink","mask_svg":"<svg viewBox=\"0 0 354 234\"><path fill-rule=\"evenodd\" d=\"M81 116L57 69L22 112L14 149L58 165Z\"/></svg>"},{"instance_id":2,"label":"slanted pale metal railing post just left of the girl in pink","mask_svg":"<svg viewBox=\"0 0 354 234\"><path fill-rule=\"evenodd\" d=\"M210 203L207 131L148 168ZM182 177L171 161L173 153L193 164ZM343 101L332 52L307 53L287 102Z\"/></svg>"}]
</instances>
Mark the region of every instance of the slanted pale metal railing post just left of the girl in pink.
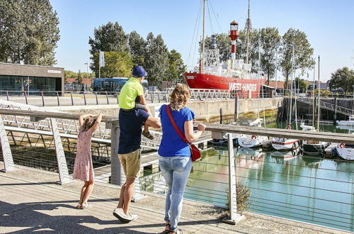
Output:
<instances>
[{"instance_id":1,"label":"slanted pale metal railing post just left of the girl in pink","mask_svg":"<svg viewBox=\"0 0 354 234\"><path fill-rule=\"evenodd\" d=\"M67 160L65 159L64 148L62 145L62 139L59 135L59 129L57 127L57 121L55 118L50 118L52 125L53 141L55 143L55 155L57 155L58 171L59 171L59 184L67 184L72 182L69 177L69 171L67 169Z\"/></svg>"}]
</instances>

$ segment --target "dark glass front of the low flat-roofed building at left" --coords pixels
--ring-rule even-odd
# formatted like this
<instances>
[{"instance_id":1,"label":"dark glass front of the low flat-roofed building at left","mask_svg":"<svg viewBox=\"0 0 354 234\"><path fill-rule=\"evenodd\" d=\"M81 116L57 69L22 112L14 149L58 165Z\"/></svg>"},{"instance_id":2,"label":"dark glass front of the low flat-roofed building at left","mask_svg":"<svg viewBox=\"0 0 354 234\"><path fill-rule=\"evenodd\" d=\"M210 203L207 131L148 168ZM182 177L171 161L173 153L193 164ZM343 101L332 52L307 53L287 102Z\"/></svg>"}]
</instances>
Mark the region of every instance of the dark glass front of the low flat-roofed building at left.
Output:
<instances>
[{"instance_id":1,"label":"dark glass front of the low flat-roofed building at left","mask_svg":"<svg viewBox=\"0 0 354 234\"><path fill-rule=\"evenodd\" d=\"M62 79L0 75L0 91L62 91Z\"/></svg>"}]
</instances>

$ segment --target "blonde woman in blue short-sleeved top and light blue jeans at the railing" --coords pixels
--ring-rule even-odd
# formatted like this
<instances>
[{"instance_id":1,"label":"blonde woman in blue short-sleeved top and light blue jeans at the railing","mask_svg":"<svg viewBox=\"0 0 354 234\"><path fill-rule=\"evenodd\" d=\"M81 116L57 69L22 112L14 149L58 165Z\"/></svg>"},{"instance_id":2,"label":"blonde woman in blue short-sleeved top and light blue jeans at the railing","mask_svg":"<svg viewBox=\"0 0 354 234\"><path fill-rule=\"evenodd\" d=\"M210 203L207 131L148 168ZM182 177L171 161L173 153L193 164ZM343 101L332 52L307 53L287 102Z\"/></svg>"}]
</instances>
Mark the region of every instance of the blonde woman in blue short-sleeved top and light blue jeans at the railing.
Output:
<instances>
[{"instance_id":1,"label":"blonde woman in blue short-sleeved top and light blue jeans at the railing","mask_svg":"<svg viewBox=\"0 0 354 234\"><path fill-rule=\"evenodd\" d=\"M171 94L169 109L173 120L178 128L185 135L188 142L193 143L198 140L205 130L204 124L198 125L198 132L193 131L193 121L195 114L190 108L185 107L190 98L190 90L185 84L177 84ZM177 228L178 219L181 216L182 201L185 185L187 184L190 169L192 168L192 158L190 148L176 129L173 128L171 120L166 113L166 105L160 108L162 125L162 140L159 147L159 166L164 176L169 191L166 194L166 233L183 233Z\"/></svg>"}]
</instances>

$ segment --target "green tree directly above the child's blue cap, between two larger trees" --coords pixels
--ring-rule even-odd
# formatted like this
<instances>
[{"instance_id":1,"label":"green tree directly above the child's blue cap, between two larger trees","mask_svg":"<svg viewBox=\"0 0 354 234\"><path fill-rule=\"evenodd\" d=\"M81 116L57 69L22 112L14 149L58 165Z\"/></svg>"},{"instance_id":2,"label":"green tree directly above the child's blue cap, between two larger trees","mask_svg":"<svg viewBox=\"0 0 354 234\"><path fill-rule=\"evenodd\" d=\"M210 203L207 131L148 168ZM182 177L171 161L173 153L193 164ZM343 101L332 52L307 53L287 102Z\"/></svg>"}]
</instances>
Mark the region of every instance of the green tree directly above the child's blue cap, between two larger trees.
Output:
<instances>
[{"instance_id":1,"label":"green tree directly above the child's blue cap, between two larger trees","mask_svg":"<svg viewBox=\"0 0 354 234\"><path fill-rule=\"evenodd\" d=\"M129 51L134 65L144 65L147 42L135 30L128 36Z\"/></svg>"}]
</instances>

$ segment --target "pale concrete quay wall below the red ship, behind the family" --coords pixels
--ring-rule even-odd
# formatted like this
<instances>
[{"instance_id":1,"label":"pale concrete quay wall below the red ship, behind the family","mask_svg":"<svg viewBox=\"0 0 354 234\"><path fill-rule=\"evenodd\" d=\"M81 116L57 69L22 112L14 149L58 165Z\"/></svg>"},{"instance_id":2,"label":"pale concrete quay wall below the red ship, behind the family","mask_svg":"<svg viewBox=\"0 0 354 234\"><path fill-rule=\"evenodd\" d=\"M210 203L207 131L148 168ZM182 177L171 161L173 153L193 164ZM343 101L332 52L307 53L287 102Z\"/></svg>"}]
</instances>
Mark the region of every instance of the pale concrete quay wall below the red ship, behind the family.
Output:
<instances>
[{"instance_id":1,"label":"pale concrete quay wall below the red ship, behind the family","mask_svg":"<svg viewBox=\"0 0 354 234\"><path fill-rule=\"evenodd\" d=\"M163 104L148 104L154 116L158 116L159 108ZM282 105L282 98L273 99L239 99L239 118L258 116L270 112L272 115L278 113L278 107ZM195 112L195 118L205 123L219 121L222 114L223 121L233 120L235 113L235 100L212 100L212 101L190 101L187 106ZM53 106L48 110L66 111L69 113L103 113L105 116L118 116L119 106L117 104L98 106Z\"/></svg>"}]
</instances>

